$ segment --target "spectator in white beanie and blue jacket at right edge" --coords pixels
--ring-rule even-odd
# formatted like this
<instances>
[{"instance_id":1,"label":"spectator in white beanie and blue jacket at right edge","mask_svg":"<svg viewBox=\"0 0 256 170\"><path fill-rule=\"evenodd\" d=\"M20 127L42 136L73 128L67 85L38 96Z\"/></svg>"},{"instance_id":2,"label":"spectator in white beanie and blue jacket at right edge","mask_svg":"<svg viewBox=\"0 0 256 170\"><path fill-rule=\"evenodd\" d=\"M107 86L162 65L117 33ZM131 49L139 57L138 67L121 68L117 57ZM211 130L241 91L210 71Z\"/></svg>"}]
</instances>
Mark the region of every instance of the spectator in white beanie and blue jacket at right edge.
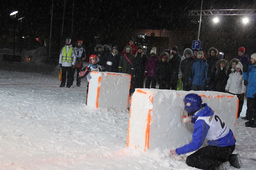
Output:
<instances>
[{"instance_id":1,"label":"spectator in white beanie and blue jacket at right edge","mask_svg":"<svg viewBox=\"0 0 256 170\"><path fill-rule=\"evenodd\" d=\"M243 78L248 81L247 86L247 110L243 119L246 127L256 127L256 53L251 55L251 64L243 68Z\"/></svg>"}]
</instances>

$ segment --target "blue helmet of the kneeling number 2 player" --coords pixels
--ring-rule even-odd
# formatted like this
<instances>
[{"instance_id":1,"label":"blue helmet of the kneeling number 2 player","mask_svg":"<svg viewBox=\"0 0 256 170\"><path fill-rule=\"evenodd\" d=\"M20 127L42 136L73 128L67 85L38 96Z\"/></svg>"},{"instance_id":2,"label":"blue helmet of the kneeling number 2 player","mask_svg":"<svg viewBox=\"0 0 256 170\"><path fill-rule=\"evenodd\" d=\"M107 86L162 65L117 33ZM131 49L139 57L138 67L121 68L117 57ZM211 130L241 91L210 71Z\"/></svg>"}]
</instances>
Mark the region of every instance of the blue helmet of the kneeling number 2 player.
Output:
<instances>
[{"instance_id":1,"label":"blue helmet of the kneeling number 2 player","mask_svg":"<svg viewBox=\"0 0 256 170\"><path fill-rule=\"evenodd\" d=\"M194 115L194 113L201 108L202 105L202 97L198 94L187 94L184 99L185 110L189 115Z\"/></svg>"}]
</instances>

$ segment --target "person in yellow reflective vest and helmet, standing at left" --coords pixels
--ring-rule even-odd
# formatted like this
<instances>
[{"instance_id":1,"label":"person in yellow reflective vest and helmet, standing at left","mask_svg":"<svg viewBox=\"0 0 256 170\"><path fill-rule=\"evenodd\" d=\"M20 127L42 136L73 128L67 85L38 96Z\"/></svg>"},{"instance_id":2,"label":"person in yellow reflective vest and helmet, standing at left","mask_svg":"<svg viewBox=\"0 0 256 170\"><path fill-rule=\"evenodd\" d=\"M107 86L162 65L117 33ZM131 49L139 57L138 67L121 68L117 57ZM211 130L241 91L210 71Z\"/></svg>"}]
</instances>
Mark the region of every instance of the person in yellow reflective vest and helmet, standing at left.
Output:
<instances>
[{"instance_id":1,"label":"person in yellow reflective vest and helmet, standing at left","mask_svg":"<svg viewBox=\"0 0 256 170\"><path fill-rule=\"evenodd\" d=\"M72 69L75 68L75 51L71 44L71 38L66 38L66 45L60 51L59 66L62 69L62 82L60 87L65 87L67 79L67 88L72 85Z\"/></svg>"}]
</instances>

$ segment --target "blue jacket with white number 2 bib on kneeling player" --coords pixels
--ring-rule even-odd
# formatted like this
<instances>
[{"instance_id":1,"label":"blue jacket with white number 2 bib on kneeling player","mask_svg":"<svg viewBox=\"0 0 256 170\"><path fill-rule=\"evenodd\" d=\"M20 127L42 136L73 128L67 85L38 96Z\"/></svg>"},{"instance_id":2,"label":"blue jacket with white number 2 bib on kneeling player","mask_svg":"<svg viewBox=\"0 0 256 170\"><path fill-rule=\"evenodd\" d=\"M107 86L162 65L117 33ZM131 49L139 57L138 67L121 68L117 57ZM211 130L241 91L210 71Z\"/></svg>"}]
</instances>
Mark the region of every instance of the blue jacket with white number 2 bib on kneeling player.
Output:
<instances>
[{"instance_id":1,"label":"blue jacket with white number 2 bib on kneeling player","mask_svg":"<svg viewBox=\"0 0 256 170\"><path fill-rule=\"evenodd\" d=\"M233 146L233 132L221 118L205 103L191 120L194 125L192 142L176 149L177 154L185 154L199 149L205 139L209 146Z\"/></svg>"}]
</instances>

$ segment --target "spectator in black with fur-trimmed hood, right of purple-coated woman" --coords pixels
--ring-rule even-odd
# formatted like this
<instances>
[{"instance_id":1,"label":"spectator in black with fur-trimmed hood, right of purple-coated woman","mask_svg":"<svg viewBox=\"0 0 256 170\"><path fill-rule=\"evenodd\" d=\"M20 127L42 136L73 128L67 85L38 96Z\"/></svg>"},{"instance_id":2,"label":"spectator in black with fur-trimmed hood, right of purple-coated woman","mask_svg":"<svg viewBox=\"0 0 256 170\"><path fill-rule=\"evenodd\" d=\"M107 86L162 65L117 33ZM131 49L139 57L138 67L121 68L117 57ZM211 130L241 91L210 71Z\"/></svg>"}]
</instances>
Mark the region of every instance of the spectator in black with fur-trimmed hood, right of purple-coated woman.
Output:
<instances>
[{"instance_id":1,"label":"spectator in black with fur-trimmed hood, right of purple-coated woman","mask_svg":"<svg viewBox=\"0 0 256 170\"><path fill-rule=\"evenodd\" d=\"M167 89L170 83L171 64L167 63L168 54L161 53L159 56L159 63L156 67L155 75L156 81L159 84L159 89Z\"/></svg>"}]
</instances>

